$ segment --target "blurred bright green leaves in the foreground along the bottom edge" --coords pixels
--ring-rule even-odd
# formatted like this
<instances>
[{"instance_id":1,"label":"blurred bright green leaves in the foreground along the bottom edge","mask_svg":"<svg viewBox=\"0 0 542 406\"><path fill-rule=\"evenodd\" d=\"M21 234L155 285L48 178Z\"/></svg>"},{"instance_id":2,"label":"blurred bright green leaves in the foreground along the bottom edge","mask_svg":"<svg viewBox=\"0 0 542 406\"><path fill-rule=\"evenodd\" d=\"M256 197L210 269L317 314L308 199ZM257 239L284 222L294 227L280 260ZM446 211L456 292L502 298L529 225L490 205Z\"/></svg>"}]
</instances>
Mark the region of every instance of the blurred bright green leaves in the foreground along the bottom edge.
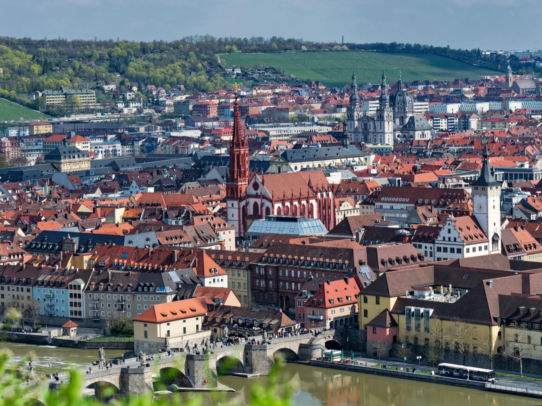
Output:
<instances>
[{"instance_id":1,"label":"blurred bright green leaves in the foreground along the bottom edge","mask_svg":"<svg viewBox=\"0 0 542 406\"><path fill-rule=\"evenodd\" d=\"M8 350L0 351L0 406L36 406L40 403L36 400L36 395L28 393L35 391L41 385L46 387L47 382L27 381L27 376L17 375L17 371L8 369L11 353ZM23 362L28 363L30 357ZM254 383L251 385L248 404L253 406L292 406L291 401L292 388L287 383L287 379L281 375L283 360L277 358L275 366L266 385ZM20 374L20 371L19 371ZM103 406L100 400L94 397L81 395L82 375L80 372L71 370L69 383L61 385L58 390L44 389L44 399L47 406ZM286 381L286 382L285 382ZM111 393L108 392L111 390ZM113 387L102 390L102 398L113 396ZM209 392L207 392L209 393ZM221 403L223 396L220 392L214 392L212 395L216 404ZM143 396L113 397L109 404L118 406L175 406L181 404L180 397L158 396L154 397L152 392ZM202 396L197 395L188 402L183 402L183 406L199 406L202 403Z\"/></svg>"}]
</instances>

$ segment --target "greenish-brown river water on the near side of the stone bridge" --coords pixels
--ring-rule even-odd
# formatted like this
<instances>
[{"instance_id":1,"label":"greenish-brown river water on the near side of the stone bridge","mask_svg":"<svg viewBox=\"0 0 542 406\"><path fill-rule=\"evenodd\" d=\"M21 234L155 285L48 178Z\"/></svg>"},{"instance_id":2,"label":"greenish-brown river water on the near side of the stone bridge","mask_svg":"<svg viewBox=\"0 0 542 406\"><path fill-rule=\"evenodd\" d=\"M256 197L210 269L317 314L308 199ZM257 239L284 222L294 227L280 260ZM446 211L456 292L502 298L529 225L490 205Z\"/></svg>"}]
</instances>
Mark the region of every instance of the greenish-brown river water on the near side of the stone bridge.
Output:
<instances>
[{"instance_id":1,"label":"greenish-brown river water on the near side of the stone bridge","mask_svg":"<svg viewBox=\"0 0 542 406\"><path fill-rule=\"evenodd\" d=\"M541 404L541 401L535 398L356 372L341 372L300 364L286 364L282 372L285 382L290 382L293 385L293 402L296 406L519 406ZM222 376L219 381L235 389L236 392L221 394L218 398L209 394L203 395L204 405L245 405L249 396L249 386L254 382L265 384L267 377L247 379ZM175 394L175 396L181 396L183 400L188 400L195 395L185 392Z\"/></svg>"}]
</instances>

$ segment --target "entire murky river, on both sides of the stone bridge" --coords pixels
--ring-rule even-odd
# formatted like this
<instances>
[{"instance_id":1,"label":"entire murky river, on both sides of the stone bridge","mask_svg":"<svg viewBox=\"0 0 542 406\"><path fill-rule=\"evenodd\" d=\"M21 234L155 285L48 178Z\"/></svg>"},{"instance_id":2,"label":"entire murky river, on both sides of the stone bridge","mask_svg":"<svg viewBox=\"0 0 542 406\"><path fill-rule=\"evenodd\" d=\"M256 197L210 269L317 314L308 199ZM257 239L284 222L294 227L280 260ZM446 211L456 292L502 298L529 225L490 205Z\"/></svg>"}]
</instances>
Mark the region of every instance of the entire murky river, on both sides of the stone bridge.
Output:
<instances>
[{"instance_id":1,"label":"entire murky river, on both sides of the stone bridge","mask_svg":"<svg viewBox=\"0 0 542 406\"><path fill-rule=\"evenodd\" d=\"M91 365L98 359L98 350L80 350L54 346L38 346L17 343L0 343L0 349L7 348L14 355L14 362L33 352L36 366L51 363L54 369ZM120 357L123 350L106 350L106 358ZM194 394L182 392L168 396L180 396L187 401L193 396L202 396L203 405L246 405L250 386L266 385L268 377L240 378L221 376L218 380L235 393ZM499 394L450 385L431 384L407 379L389 378L377 375L343 372L328 368L287 363L281 371L281 387L292 385L292 400L295 406L459 406L459 405L539 405L537 398ZM183 402L184 403L184 402Z\"/></svg>"}]
</instances>

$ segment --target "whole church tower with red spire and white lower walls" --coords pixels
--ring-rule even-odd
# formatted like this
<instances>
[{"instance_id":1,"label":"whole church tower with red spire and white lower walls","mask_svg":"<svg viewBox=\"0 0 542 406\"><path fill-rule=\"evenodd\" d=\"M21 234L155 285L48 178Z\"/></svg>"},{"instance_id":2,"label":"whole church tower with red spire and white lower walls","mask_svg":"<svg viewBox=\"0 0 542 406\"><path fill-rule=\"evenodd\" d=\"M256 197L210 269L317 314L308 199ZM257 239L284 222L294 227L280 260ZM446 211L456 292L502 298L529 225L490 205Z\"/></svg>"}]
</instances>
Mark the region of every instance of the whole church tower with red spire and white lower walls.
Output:
<instances>
[{"instance_id":1,"label":"whole church tower with red spire and white lower walls","mask_svg":"<svg viewBox=\"0 0 542 406\"><path fill-rule=\"evenodd\" d=\"M235 237L242 232L243 213L246 209L240 207L239 202L247 189L250 170L248 166L247 137L241 132L241 115L237 102L237 83L234 83L234 126L230 141L230 168L226 176L226 201L228 204L228 222L235 226Z\"/></svg>"}]
</instances>

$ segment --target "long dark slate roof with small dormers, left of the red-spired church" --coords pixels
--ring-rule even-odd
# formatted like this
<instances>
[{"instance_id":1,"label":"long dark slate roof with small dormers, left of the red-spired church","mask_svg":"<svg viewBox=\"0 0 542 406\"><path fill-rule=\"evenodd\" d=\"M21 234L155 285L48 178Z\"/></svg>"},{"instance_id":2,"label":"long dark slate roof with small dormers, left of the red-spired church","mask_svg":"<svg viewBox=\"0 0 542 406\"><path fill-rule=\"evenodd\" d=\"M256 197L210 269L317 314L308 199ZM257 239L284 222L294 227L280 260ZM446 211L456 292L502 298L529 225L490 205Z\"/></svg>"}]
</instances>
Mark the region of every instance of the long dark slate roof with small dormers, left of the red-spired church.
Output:
<instances>
[{"instance_id":1,"label":"long dark slate roof with small dormers, left of the red-spired church","mask_svg":"<svg viewBox=\"0 0 542 406\"><path fill-rule=\"evenodd\" d=\"M27 251L44 253L60 252L64 237L69 237L78 245L78 252L89 252L96 244L127 245L132 247L146 247L159 245L156 233L140 233L128 235L89 234L73 231L44 230L30 241L24 248ZM148 239L148 241L147 241Z\"/></svg>"}]
</instances>

